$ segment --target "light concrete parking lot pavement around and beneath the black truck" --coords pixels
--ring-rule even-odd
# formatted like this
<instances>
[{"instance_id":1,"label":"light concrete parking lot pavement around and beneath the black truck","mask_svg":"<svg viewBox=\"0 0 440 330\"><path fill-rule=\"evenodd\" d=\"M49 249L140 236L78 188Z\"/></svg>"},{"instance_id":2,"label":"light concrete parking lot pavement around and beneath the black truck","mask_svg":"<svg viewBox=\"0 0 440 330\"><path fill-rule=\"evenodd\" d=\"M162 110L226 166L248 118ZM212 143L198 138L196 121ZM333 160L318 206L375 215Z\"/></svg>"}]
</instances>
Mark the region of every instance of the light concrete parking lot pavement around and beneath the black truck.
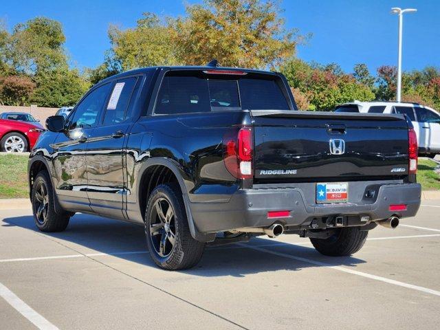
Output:
<instances>
[{"instance_id":1,"label":"light concrete parking lot pavement around and beneath the black truck","mask_svg":"<svg viewBox=\"0 0 440 330\"><path fill-rule=\"evenodd\" d=\"M153 265L140 226L76 214L43 234L0 210L0 329L439 329L440 201L422 204L352 257L284 235L185 272Z\"/></svg>"}]
</instances>

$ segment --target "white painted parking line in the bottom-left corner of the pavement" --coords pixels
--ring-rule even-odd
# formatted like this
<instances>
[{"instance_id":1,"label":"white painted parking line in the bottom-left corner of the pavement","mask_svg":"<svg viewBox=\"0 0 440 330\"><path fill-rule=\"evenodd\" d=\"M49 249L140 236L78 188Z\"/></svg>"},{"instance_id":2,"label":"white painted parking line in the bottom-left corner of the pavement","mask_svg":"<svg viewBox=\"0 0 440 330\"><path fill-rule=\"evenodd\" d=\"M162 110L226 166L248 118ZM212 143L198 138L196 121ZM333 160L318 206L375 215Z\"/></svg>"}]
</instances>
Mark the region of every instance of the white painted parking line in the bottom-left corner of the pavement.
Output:
<instances>
[{"instance_id":1,"label":"white painted parking line in the bottom-left corner of the pavement","mask_svg":"<svg viewBox=\"0 0 440 330\"><path fill-rule=\"evenodd\" d=\"M6 302L14 307L21 315L30 320L37 328L42 330L57 330L58 328L52 325L51 322L43 318L32 307L21 300L14 292L0 283L0 296Z\"/></svg>"}]
</instances>

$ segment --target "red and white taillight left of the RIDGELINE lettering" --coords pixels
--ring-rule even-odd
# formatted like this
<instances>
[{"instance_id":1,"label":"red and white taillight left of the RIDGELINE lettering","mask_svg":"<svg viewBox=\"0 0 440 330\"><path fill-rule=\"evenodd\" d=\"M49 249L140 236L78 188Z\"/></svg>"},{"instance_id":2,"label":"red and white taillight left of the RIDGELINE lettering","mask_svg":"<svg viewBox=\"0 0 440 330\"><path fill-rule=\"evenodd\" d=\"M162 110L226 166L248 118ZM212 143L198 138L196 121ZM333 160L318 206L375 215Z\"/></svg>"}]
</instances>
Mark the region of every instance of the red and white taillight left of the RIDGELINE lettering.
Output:
<instances>
[{"instance_id":1,"label":"red and white taillight left of the RIDGELINE lettering","mask_svg":"<svg viewBox=\"0 0 440 330\"><path fill-rule=\"evenodd\" d=\"M227 137L223 160L229 173L237 179L252 178L252 129L242 127L236 137Z\"/></svg>"}]
</instances>

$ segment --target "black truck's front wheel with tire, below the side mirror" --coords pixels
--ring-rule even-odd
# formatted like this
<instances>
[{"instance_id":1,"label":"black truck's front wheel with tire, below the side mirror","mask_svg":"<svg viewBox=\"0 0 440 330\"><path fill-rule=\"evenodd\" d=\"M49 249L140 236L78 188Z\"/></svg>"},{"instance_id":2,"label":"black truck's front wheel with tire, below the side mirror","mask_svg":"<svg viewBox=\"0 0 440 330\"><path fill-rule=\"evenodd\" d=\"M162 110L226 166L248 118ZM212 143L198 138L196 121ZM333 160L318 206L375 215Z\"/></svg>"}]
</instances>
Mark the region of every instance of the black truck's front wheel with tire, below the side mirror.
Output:
<instances>
[{"instance_id":1,"label":"black truck's front wheel with tire, below the side mirror","mask_svg":"<svg viewBox=\"0 0 440 330\"><path fill-rule=\"evenodd\" d=\"M32 186L32 212L36 226L42 232L62 232L69 224L69 212L55 212L54 190L49 173L42 170Z\"/></svg>"}]
</instances>

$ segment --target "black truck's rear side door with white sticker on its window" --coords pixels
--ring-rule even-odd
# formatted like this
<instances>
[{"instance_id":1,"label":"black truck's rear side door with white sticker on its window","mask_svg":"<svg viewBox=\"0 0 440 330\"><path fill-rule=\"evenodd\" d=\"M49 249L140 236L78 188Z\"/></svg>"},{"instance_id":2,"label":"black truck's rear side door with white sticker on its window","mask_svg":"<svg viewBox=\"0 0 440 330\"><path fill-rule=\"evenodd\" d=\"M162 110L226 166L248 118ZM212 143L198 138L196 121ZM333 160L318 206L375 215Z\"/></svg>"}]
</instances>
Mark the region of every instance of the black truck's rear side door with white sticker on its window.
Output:
<instances>
[{"instance_id":1,"label":"black truck's rear side door with white sticker on its window","mask_svg":"<svg viewBox=\"0 0 440 330\"><path fill-rule=\"evenodd\" d=\"M122 216L126 195L124 144L132 124L133 91L139 78L121 78L113 83L100 125L87 144L87 195L94 212Z\"/></svg>"}]
</instances>

